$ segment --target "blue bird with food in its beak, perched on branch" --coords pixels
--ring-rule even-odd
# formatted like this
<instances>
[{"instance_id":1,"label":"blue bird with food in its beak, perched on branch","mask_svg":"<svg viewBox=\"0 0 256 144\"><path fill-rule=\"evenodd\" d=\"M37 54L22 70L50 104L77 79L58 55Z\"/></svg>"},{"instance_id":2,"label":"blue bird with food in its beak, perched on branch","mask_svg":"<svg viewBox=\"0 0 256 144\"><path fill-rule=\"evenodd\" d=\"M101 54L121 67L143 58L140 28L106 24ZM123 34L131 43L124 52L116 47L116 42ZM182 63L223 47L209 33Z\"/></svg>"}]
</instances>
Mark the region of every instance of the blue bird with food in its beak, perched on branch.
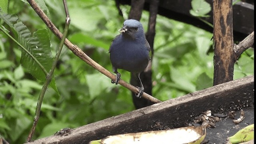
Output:
<instances>
[{"instance_id":1,"label":"blue bird with food in its beak, perched on branch","mask_svg":"<svg viewBox=\"0 0 256 144\"><path fill-rule=\"evenodd\" d=\"M112 84L118 84L121 74L117 71L123 69L131 72L140 80L140 73L145 70L150 61L150 46L145 38L142 24L137 20L125 20L123 27L119 30L109 48L110 61L116 74L116 80ZM136 97L140 98L144 87L140 80L140 87Z\"/></svg>"}]
</instances>

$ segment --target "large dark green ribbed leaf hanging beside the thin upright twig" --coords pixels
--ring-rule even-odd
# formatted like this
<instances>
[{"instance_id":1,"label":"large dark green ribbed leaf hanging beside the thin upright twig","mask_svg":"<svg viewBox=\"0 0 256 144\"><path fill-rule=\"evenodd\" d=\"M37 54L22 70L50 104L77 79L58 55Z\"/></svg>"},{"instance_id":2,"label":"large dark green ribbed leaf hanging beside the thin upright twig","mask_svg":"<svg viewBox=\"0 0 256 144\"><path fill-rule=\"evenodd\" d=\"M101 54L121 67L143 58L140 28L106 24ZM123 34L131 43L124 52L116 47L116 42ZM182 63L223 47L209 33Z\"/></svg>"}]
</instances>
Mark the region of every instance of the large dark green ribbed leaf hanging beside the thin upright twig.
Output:
<instances>
[{"instance_id":1,"label":"large dark green ribbed leaf hanging beside the thin upright twig","mask_svg":"<svg viewBox=\"0 0 256 144\"><path fill-rule=\"evenodd\" d=\"M50 37L46 29L40 29L34 32L31 36L28 28L18 20L18 17L10 14L3 14L0 12L0 18L6 22L15 32L18 37L18 42L30 53L32 54L38 62L44 67L46 72L50 71L52 67L52 53L50 50ZM19 47L20 48L20 47ZM45 73L40 68L40 66L34 61L34 59L22 48L20 63L32 76L38 80L45 80ZM52 76L52 81L50 86L58 93L58 90L55 85L54 76Z\"/></svg>"}]
</instances>

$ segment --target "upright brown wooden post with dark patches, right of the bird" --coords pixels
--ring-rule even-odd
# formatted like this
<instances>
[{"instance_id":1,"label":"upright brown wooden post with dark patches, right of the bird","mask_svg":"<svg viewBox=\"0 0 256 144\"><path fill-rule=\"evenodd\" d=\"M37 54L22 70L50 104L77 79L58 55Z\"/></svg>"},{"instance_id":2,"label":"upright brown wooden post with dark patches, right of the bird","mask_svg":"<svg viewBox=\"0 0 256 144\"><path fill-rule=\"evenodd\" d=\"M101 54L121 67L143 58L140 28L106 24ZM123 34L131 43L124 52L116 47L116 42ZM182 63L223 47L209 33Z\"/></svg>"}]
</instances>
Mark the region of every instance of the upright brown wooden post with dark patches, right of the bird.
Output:
<instances>
[{"instance_id":1,"label":"upright brown wooden post with dark patches, right of the bird","mask_svg":"<svg viewBox=\"0 0 256 144\"><path fill-rule=\"evenodd\" d=\"M233 52L232 0L214 0L213 24L215 86L233 80L236 59Z\"/></svg>"}]
</instances>

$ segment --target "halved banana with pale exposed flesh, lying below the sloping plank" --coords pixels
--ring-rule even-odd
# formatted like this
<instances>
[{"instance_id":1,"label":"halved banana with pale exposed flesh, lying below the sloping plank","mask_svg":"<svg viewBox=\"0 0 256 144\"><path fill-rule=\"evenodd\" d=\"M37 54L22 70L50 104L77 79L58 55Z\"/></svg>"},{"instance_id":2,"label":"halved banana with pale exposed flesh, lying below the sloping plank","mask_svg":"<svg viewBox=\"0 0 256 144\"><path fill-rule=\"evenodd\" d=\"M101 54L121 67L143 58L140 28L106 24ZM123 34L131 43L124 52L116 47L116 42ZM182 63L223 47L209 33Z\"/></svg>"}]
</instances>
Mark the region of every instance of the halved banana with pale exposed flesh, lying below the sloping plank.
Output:
<instances>
[{"instance_id":1,"label":"halved banana with pale exposed flesh, lying below the sloping plank","mask_svg":"<svg viewBox=\"0 0 256 144\"><path fill-rule=\"evenodd\" d=\"M200 144L206 136L204 126L188 126L171 130L159 130L107 136L90 144Z\"/></svg>"}]
</instances>

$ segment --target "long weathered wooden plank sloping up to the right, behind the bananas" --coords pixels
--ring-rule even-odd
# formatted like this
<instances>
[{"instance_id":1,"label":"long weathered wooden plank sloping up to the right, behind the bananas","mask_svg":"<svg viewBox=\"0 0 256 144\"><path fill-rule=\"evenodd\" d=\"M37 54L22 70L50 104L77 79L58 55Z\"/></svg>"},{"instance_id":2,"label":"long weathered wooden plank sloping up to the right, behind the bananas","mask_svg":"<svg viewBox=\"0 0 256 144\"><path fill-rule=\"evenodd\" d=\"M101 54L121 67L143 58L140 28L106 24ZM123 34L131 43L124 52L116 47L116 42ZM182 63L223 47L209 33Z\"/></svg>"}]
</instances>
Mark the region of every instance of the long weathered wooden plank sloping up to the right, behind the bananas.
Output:
<instances>
[{"instance_id":1,"label":"long weathered wooden plank sloping up to the right, behind the bananas","mask_svg":"<svg viewBox=\"0 0 256 144\"><path fill-rule=\"evenodd\" d=\"M68 136L49 136L29 144L87 144L108 135L183 127L206 110L226 113L253 107L254 76L247 76L72 129Z\"/></svg>"}]
</instances>

